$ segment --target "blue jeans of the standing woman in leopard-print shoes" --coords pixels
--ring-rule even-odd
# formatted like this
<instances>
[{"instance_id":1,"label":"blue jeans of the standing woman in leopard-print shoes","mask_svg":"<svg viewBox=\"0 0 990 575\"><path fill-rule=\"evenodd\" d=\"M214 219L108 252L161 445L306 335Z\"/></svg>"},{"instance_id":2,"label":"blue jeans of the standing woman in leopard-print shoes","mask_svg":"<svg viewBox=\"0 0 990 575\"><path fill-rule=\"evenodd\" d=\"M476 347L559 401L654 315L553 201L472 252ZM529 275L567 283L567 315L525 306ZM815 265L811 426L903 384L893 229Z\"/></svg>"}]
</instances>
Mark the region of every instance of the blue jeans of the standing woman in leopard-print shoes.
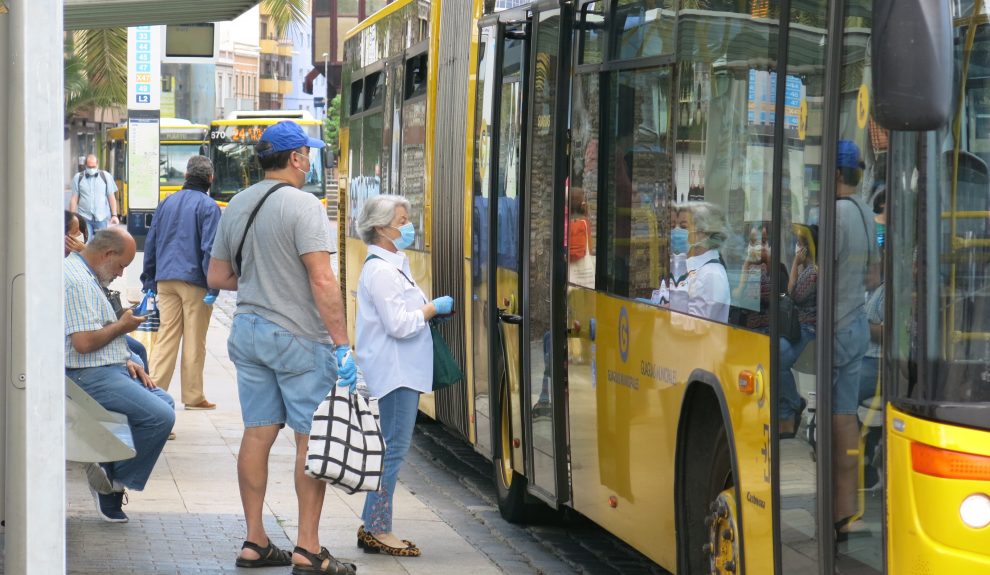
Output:
<instances>
[{"instance_id":1,"label":"blue jeans of the standing woman in leopard-print shoes","mask_svg":"<svg viewBox=\"0 0 990 575\"><path fill-rule=\"evenodd\" d=\"M412 432L416 426L419 392L400 387L378 400L382 437L385 439L385 460L382 483L378 491L364 500L364 528L369 533L392 532L392 496L399 479L399 468L409 452Z\"/></svg>"}]
</instances>

